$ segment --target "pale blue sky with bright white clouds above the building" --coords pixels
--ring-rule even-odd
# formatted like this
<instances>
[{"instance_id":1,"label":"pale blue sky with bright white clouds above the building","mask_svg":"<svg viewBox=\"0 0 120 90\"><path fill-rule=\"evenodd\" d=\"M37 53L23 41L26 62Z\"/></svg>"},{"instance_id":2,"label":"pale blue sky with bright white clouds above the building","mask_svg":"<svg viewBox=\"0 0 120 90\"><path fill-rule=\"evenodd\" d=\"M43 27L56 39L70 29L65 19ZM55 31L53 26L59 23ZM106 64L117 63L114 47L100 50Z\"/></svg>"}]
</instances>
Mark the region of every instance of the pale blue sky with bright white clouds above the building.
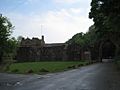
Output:
<instances>
[{"instance_id":1,"label":"pale blue sky with bright white clouds above the building","mask_svg":"<svg viewBox=\"0 0 120 90\"><path fill-rule=\"evenodd\" d=\"M63 43L88 31L91 0L0 0L0 13L15 26L12 36L45 36L47 43Z\"/></svg>"}]
</instances>

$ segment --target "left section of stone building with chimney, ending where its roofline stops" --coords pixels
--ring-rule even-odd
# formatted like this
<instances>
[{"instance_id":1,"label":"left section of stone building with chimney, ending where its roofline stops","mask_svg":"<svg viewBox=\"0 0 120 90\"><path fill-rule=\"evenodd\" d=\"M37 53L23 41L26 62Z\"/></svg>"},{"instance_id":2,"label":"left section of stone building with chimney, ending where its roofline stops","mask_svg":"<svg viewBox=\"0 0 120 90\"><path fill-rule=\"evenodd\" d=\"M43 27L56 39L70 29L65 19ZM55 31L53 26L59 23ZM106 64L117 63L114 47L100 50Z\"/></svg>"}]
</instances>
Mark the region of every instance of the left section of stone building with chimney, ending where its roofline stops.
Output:
<instances>
[{"instance_id":1,"label":"left section of stone building with chimney, ending where its roofline stops","mask_svg":"<svg viewBox=\"0 0 120 90\"><path fill-rule=\"evenodd\" d=\"M42 39L22 39L20 46L17 50L16 60L18 62L23 61L50 61L50 60L65 60L66 55L66 44L65 43L54 43L45 44L44 36Z\"/></svg>"}]
</instances>

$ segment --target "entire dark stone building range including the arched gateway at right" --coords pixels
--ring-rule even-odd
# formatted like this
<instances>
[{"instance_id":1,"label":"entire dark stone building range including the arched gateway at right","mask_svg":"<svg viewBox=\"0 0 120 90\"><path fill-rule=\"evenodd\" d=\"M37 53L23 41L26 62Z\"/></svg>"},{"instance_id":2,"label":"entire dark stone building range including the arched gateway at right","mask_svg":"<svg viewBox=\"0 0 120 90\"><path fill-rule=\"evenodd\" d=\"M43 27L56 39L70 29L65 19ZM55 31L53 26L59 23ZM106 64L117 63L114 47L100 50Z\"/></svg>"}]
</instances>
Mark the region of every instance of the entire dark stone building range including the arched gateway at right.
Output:
<instances>
[{"instance_id":1,"label":"entire dark stone building range including the arched gateway at right","mask_svg":"<svg viewBox=\"0 0 120 90\"><path fill-rule=\"evenodd\" d=\"M23 38L17 50L16 60L18 62L31 61L79 61L99 60L103 58L114 59L117 55L119 44L109 36L100 40L94 46L81 47L77 44L52 43L47 44L38 38Z\"/></svg>"}]
</instances>

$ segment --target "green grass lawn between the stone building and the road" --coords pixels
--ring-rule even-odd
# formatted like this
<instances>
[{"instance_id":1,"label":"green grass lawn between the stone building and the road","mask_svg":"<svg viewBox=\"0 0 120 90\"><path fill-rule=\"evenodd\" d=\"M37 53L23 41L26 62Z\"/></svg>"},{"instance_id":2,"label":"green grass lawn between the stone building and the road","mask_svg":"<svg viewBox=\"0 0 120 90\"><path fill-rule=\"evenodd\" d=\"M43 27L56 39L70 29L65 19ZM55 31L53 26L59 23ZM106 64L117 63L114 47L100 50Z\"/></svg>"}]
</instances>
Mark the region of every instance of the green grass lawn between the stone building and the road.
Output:
<instances>
[{"instance_id":1,"label":"green grass lawn between the stone building and the road","mask_svg":"<svg viewBox=\"0 0 120 90\"><path fill-rule=\"evenodd\" d=\"M87 65L87 61L70 61L70 62L25 62L25 63L13 63L7 69L7 72L13 73L50 73L60 72L69 69L75 69L80 66Z\"/></svg>"}]
</instances>

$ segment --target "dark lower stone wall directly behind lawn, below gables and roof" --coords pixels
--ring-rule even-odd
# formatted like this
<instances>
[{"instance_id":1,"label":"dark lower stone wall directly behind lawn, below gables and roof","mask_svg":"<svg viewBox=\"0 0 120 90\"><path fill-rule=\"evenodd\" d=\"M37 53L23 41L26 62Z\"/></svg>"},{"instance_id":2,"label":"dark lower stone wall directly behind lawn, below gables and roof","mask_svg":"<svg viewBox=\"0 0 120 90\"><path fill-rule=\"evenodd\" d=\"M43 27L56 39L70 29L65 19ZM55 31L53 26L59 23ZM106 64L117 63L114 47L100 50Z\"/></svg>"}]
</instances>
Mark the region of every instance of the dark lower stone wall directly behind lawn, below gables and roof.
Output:
<instances>
[{"instance_id":1,"label":"dark lower stone wall directly behind lawn, below gables and roof","mask_svg":"<svg viewBox=\"0 0 120 90\"><path fill-rule=\"evenodd\" d=\"M63 46L53 47L19 47L16 59L18 62L23 61L59 61L65 60L65 49Z\"/></svg>"}]
</instances>

